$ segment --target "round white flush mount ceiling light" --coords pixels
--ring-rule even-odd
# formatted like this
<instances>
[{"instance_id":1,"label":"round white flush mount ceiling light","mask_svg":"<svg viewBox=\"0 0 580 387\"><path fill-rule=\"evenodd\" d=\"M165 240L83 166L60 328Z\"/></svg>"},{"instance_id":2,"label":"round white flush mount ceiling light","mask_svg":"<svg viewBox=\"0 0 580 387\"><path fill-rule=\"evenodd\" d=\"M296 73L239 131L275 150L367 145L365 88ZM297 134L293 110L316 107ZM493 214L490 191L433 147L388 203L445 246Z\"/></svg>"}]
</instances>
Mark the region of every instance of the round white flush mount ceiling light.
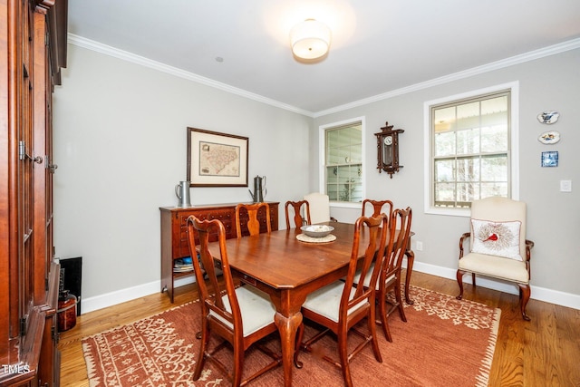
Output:
<instances>
[{"instance_id":1,"label":"round white flush mount ceiling light","mask_svg":"<svg viewBox=\"0 0 580 387\"><path fill-rule=\"evenodd\" d=\"M321 58L330 47L330 28L322 22L306 19L290 31L290 44L297 58Z\"/></svg>"}]
</instances>

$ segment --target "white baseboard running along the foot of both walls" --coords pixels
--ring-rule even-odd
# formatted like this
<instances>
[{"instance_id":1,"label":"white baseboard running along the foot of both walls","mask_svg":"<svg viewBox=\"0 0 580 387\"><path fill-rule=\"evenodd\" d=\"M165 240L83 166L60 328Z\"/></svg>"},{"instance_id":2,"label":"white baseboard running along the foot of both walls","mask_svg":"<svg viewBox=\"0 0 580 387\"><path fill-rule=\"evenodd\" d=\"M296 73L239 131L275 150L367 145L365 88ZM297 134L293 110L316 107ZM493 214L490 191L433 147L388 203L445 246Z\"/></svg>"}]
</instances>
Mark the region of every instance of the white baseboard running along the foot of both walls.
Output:
<instances>
[{"instance_id":1,"label":"white baseboard running along the foot of both walls","mask_svg":"<svg viewBox=\"0 0 580 387\"><path fill-rule=\"evenodd\" d=\"M448 267L434 266L417 262L413 264L413 271L430 274L432 276L440 276L443 278L456 279L456 269ZM412 277L411 277L412 278ZM179 278L175 281L175 286L192 284L195 281L193 276ZM464 277L465 283L471 283L471 277ZM412 282L411 282L412 283ZM117 290L115 292L104 295L96 295L94 297L84 298L82 300L82 314L89 313L98 309L106 308L108 306L117 305L126 301L131 301L136 298L152 295L160 291L161 281L153 281L149 284L137 285L128 287L126 289ZM478 286L487 287L489 289L498 290L500 292L517 295L517 286L501 281L494 281L484 277L478 277ZM459 290L459 289L458 289ZM570 293L560 292L557 290L546 289L545 287L532 286L531 298L534 300L544 301L546 303L562 305L580 310L580 295L572 295Z\"/></svg>"}]
</instances>

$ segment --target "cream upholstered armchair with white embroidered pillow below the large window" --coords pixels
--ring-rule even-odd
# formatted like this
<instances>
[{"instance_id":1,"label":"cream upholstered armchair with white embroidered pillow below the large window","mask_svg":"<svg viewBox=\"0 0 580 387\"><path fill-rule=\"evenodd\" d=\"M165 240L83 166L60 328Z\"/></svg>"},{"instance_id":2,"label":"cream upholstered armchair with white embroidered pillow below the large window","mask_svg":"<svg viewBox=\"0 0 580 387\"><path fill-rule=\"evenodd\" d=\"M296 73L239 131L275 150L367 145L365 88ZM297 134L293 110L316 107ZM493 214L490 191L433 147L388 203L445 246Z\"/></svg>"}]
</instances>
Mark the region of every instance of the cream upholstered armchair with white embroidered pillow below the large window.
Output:
<instances>
[{"instance_id":1,"label":"cream upholstered armchair with white embroidered pillow below the large window","mask_svg":"<svg viewBox=\"0 0 580 387\"><path fill-rule=\"evenodd\" d=\"M491 197L471 202L471 231L459 238L457 282L460 300L463 297L463 275L488 276L517 285L522 318L529 321L526 305L529 285L531 250L534 242L526 238L526 203L511 198ZM469 240L464 255L463 244Z\"/></svg>"}]
</instances>

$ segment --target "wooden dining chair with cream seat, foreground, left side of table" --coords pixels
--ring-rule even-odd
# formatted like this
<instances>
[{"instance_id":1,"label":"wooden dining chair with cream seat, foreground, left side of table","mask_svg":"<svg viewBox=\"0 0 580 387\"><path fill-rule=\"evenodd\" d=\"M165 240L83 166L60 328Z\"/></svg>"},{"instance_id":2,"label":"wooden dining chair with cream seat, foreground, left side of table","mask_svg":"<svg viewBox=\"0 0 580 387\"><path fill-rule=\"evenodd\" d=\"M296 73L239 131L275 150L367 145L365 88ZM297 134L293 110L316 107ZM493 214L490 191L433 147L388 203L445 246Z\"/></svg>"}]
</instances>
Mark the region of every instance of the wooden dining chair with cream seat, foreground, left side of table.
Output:
<instances>
[{"instance_id":1,"label":"wooden dining chair with cream seat, foreground, left side of table","mask_svg":"<svg viewBox=\"0 0 580 387\"><path fill-rule=\"evenodd\" d=\"M209 235L218 234L223 280L218 281L214 257L208 249ZM201 307L201 340L198 351L193 380L197 381L203 371L206 361L215 363L224 372L232 385L239 386L250 382L277 365L282 363L282 356L273 353L257 343L269 334L277 332L274 323L275 307L265 293L254 286L234 285L226 250L226 228L218 219L199 220L194 215L188 218L189 251L191 256L197 252L195 234L198 234L199 259L206 268L208 288L204 280L201 266L193 259L194 272L199 289L199 305ZM211 289L211 290L210 290ZM223 339L219 344L209 347L212 334ZM217 353L233 347L233 367L227 367L219 360ZM244 359L247 349L256 343L256 348L272 358L260 370L252 373L242 381ZM233 368L233 369L232 369Z\"/></svg>"}]
</instances>

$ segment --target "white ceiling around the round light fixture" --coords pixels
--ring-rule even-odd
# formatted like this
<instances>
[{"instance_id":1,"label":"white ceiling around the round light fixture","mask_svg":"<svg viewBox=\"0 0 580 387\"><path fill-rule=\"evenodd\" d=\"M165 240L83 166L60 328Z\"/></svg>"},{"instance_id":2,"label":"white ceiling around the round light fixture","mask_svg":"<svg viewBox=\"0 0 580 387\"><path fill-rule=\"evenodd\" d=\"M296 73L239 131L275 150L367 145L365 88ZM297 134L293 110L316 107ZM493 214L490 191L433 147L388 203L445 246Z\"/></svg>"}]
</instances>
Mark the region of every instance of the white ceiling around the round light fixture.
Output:
<instances>
[{"instance_id":1,"label":"white ceiling around the round light fixture","mask_svg":"<svg viewBox=\"0 0 580 387\"><path fill-rule=\"evenodd\" d=\"M580 47L580 0L72 0L68 12L74 44L312 115ZM306 18L333 31L320 63L289 47Z\"/></svg>"}]
</instances>

